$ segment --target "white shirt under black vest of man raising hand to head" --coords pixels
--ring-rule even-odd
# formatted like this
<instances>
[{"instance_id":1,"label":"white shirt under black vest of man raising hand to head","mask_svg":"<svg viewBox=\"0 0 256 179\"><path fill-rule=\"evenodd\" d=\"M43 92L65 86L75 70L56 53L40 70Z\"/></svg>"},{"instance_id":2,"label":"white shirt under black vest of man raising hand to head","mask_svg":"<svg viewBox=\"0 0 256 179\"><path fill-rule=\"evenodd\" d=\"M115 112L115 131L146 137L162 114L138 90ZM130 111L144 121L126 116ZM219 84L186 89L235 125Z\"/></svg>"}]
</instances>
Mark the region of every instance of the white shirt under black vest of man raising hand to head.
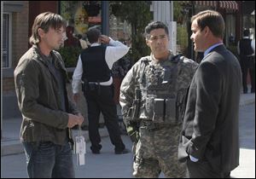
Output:
<instances>
[{"instance_id":1,"label":"white shirt under black vest of man raising hand to head","mask_svg":"<svg viewBox=\"0 0 256 179\"><path fill-rule=\"evenodd\" d=\"M99 43L92 43L91 47L101 45ZM120 58L122 58L127 52L129 51L129 47L127 47L125 44L120 43L119 41L114 41L112 38L110 38L110 41L108 43L108 47L106 48L105 52L105 60L108 64L109 69L112 68L113 63L115 61L118 61ZM73 94L79 93L79 84L81 83L81 78L83 75L83 64L81 61L81 56L79 55L79 61L76 66L75 71L73 72L73 82L72 82L72 89ZM110 77L110 79L107 82L100 83L101 85L108 86L113 83L113 78Z\"/></svg>"}]
</instances>

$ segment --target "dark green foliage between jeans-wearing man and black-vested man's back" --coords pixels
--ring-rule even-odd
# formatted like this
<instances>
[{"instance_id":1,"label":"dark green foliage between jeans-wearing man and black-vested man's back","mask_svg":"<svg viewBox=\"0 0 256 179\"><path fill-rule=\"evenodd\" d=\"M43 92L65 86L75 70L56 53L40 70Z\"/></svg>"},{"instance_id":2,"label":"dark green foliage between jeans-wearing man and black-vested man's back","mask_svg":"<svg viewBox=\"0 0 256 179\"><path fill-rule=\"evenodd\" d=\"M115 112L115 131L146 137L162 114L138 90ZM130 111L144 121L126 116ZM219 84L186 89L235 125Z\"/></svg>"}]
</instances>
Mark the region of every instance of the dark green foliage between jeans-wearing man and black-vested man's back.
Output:
<instances>
[{"instance_id":1,"label":"dark green foliage between jeans-wearing man and black-vested man's back","mask_svg":"<svg viewBox=\"0 0 256 179\"><path fill-rule=\"evenodd\" d=\"M79 60L79 55L81 53L79 47L62 47L58 51L60 52L66 67L75 67Z\"/></svg>"}]
</instances>

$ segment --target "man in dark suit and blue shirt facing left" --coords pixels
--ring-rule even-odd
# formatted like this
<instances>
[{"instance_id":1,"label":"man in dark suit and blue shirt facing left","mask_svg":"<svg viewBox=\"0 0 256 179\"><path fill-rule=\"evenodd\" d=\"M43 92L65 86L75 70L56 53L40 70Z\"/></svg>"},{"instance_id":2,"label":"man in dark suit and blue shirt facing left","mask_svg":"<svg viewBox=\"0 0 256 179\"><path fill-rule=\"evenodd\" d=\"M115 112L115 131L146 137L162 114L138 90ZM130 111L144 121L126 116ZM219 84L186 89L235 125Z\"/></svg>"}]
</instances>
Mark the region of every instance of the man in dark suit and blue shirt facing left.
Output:
<instances>
[{"instance_id":1,"label":"man in dark suit and blue shirt facing left","mask_svg":"<svg viewBox=\"0 0 256 179\"><path fill-rule=\"evenodd\" d=\"M224 47L224 19L206 10L191 19L191 39L204 59L187 94L178 159L189 177L230 177L239 165L239 62Z\"/></svg>"}]
</instances>

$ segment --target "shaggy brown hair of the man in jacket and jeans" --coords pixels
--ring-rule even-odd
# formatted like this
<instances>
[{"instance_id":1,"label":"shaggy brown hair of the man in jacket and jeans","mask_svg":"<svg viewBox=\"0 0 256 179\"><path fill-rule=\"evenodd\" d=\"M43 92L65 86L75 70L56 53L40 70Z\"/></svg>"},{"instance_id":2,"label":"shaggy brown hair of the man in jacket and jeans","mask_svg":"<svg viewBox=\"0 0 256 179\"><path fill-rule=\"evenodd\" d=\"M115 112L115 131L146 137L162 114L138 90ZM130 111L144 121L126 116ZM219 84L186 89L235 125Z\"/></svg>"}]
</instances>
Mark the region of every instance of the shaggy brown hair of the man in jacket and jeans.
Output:
<instances>
[{"instance_id":1,"label":"shaggy brown hair of the man in jacket and jeans","mask_svg":"<svg viewBox=\"0 0 256 179\"><path fill-rule=\"evenodd\" d=\"M48 32L49 27L52 27L54 29L59 29L61 28L61 26L63 26L63 28L66 28L67 22L61 17L60 14L54 14L51 12L38 14L32 26L32 36L29 38L29 43L37 44L40 42L40 36L38 35L38 28L43 29L44 32Z\"/></svg>"}]
</instances>

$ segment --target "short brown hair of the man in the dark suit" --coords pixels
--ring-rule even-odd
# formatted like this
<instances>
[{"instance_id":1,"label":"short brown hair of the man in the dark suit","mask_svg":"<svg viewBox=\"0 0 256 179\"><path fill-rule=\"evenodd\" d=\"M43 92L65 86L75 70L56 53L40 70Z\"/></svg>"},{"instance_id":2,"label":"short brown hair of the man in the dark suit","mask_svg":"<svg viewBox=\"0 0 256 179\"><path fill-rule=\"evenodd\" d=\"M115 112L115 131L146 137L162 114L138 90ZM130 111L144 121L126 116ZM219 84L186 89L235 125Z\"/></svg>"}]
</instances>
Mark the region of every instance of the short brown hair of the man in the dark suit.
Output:
<instances>
[{"instance_id":1,"label":"short brown hair of the man in the dark suit","mask_svg":"<svg viewBox=\"0 0 256 179\"><path fill-rule=\"evenodd\" d=\"M200 30L209 27L212 34L218 38L224 38L225 22L221 14L214 10L204 10L191 17L191 22L197 21Z\"/></svg>"}]
</instances>

